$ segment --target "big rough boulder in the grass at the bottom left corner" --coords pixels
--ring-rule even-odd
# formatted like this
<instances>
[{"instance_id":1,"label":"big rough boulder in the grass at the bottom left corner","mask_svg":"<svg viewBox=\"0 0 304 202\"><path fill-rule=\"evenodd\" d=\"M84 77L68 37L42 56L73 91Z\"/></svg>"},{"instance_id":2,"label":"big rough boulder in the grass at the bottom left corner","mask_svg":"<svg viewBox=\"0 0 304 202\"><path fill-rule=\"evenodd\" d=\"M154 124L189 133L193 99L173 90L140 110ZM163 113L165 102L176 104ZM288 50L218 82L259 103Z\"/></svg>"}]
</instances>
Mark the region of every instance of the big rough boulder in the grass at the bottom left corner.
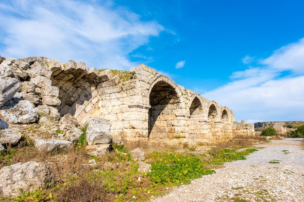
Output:
<instances>
[{"instance_id":1,"label":"big rough boulder in the grass at the bottom left corner","mask_svg":"<svg viewBox=\"0 0 304 202\"><path fill-rule=\"evenodd\" d=\"M26 162L0 170L0 192L6 197L17 197L22 191L34 191L51 181L51 170L46 163Z\"/></svg>"}]
</instances>

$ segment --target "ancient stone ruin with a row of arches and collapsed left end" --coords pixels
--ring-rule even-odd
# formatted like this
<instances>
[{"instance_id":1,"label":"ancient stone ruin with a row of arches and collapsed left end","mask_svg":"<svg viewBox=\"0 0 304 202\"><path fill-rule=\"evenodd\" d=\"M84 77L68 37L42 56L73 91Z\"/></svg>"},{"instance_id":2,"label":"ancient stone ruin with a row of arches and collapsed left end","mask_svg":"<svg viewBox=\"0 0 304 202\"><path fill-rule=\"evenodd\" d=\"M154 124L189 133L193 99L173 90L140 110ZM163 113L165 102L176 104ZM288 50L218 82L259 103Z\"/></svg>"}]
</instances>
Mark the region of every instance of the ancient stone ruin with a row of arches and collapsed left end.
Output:
<instances>
[{"instance_id":1,"label":"ancient stone ruin with a row of arches and collapsed left end","mask_svg":"<svg viewBox=\"0 0 304 202\"><path fill-rule=\"evenodd\" d=\"M24 106L18 113L5 107L13 96L14 105ZM3 124L36 123L44 111L57 121L71 114L80 124L102 117L113 138L128 142L198 146L254 135L253 124L235 122L231 109L144 64L127 72L44 57L1 58L1 108Z\"/></svg>"}]
</instances>

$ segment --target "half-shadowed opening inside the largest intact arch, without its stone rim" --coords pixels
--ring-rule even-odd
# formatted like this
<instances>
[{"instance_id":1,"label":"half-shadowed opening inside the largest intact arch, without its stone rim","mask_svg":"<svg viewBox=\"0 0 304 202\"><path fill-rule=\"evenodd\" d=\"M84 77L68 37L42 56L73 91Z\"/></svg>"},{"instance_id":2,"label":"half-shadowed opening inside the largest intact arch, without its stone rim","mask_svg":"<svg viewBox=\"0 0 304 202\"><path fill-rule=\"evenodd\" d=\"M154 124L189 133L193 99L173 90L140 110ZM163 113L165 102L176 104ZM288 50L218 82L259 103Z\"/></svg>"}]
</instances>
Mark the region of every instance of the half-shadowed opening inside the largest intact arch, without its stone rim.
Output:
<instances>
[{"instance_id":1,"label":"half-shadowed opening inside the largest intact arch, without its stone rim","mask_svg":"<svg viewBox=\"0 0 304 202\"><path fill-rule=\"evenodd\" d=\"M148 138L169 138L174 133L171 121L175 118L180 100L175 89L165 81L158 81L151 90Z\"/></svg>"}]
</instances>

